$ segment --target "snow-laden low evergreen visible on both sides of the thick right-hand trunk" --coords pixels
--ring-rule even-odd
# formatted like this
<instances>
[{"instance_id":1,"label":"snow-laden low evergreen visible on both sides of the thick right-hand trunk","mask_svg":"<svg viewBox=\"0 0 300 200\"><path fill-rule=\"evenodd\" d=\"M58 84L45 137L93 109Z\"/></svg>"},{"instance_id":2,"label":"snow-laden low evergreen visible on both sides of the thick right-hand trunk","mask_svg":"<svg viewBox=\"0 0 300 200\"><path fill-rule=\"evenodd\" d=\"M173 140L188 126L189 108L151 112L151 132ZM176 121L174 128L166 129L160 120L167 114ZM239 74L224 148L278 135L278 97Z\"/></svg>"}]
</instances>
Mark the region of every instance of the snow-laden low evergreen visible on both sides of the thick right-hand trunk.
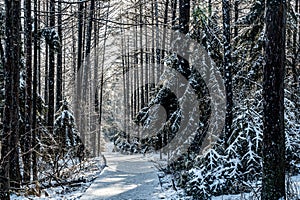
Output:
<instances>
[{"instance_id":1,"label":"snow-laden low evergreen visible on both sides of the thick right-hand trunk","mask_svg":"<svg viewBox=\"0 0 300 200\"><path fill-rule=\"evenodd\" d=\"M239 102L235 108L230 145L223 149L224 143L219 141L206 154L198 156L183 184L188 195L195 199L207 199L214 195L253 192L255 187L260 187L263 136L261 92L258 90L252 98ZM295 117L299 111L287 97L285 108L286 167L290 174L295 175L299 173L300 163L300 129Z\"/></svg>"}]
</instances>

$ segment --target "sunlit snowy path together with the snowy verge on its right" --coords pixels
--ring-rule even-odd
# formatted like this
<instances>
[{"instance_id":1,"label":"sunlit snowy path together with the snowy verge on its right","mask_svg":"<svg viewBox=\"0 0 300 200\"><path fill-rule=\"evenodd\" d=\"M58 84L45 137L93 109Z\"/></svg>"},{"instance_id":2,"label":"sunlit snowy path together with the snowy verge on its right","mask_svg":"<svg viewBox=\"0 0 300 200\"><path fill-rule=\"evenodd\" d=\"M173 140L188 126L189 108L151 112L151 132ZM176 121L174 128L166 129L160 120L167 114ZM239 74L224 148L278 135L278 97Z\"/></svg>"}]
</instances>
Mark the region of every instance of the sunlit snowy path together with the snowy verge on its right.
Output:
<instances>
[{"instance_id":1,"label":"sunlit snowy path together with the snowy verge on its right","mask_svg":"<svg viewBox=\"0 0 300 200\"><path fill-rule=\"evenodd\" d=\"M106 142L106 167L80 200L188 200L182 189L174 188L174 177L158 168L167 164L167 155L149 153L146 155L124 155L113 152L114 146ZM157 168L158 167L158 168Z\"/></svg>"}]
</instances>

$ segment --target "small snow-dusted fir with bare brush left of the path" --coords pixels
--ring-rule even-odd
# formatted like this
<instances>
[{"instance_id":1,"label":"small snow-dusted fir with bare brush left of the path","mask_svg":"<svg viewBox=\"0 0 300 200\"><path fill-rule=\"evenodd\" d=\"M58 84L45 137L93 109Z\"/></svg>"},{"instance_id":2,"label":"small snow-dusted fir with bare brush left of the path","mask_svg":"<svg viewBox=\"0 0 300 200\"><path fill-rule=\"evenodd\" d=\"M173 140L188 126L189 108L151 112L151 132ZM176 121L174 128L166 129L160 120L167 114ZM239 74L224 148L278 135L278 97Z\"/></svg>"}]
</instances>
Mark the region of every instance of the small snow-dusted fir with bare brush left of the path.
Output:
<instances>
[{"instance_id":1,"label":"small snow-dusted fir with bare brush left of the path","mask_svg":"<svg viewBox=\"0 0 300 200\"><path fill-rule=\"evenodd\" d=\"M81 166L86 152L66 101L57 111L55 119L53 133L42 126L42 118L39 119L40 126L36 130L37 169L39 182L43 187L53 183L61 184L73 176L70 170Z\"/></svg>"}]
</instances>

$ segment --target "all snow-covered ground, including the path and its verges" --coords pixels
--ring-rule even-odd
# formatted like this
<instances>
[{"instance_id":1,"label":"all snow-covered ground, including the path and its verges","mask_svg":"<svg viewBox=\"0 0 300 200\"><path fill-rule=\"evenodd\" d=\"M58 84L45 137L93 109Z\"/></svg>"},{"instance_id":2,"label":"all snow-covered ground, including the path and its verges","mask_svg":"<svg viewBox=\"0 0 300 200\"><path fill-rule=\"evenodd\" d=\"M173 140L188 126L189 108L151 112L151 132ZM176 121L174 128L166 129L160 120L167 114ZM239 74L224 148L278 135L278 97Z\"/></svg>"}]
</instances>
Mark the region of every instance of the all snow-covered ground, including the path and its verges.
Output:
<instances>
[{"instance_id":1,"label":"all snow-covered ground, including the path and its verges","mask_svg":"<svg viewBox=\"0 0 300 200\"><path fill-rule=\"evenodd\" d=\"M175 184L172 175L159 172L157 166L167 163L166 156L160 160L159 154L145 156L123 155L113 151L113 145L107 143L106 167L102 157L88 160L80 176L87 181L78 186L53 187L42 191L41 197L11 195L13 200L49 199L49 200L191 200ZM155 167L156 166L156 167ZM300 175L290 179L290 191L293 199L300 199ZM46 196L46 194L47 196ZM212 200L258 200L259 194L245 193L212 197ZM291 199L291 198L289 198Z\"/></svg>"}]
</instances>

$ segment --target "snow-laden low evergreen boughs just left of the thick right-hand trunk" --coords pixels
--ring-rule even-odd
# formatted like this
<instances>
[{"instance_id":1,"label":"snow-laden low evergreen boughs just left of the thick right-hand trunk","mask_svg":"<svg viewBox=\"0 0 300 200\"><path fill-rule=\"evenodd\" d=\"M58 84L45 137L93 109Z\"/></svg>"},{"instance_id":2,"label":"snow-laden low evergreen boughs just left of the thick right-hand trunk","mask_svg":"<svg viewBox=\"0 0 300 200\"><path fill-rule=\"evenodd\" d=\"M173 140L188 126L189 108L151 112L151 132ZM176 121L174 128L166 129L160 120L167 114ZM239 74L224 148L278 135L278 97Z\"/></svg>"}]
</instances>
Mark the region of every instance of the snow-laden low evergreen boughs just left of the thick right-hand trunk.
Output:
<instances>
[{"instance_id":1,"label":"snow-laden low evergreen boughs just left of the thick right-hand trunk","mask_svg":"<svg viewBox=\"0 0 300 200\"><path fill-rule=\"evenodd\" d=\"M235 108L230 145L224 149L224 141L219 140L207 153L198 156L188 175L189 195L206 199L212 195L251 191L252 185L260 180L262 101L260 95L257 97L240 102Z\"/></svg>"}]
</instances>

